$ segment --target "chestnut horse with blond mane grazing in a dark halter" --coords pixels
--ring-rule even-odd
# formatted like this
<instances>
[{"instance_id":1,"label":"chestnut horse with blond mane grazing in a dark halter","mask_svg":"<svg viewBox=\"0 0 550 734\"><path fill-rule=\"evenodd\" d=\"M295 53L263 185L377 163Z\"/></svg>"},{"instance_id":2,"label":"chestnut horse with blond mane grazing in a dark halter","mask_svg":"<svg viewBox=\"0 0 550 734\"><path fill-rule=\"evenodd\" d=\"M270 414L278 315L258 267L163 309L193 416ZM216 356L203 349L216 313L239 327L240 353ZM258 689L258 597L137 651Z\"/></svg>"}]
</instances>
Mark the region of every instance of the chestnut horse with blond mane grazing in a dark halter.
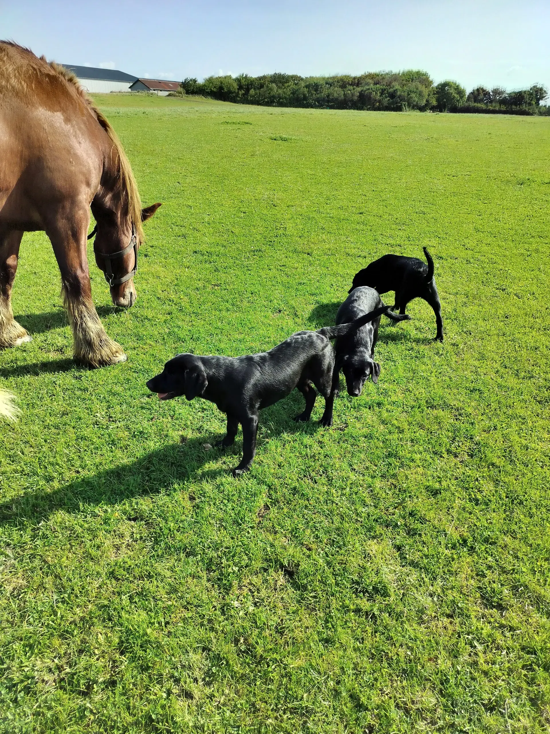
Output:
<instances>
[{"instance_id":1,"label":"chestnut horse with blond mane grazing in a dark halter","mask_svg":"<svg viewBox=\"0 0 550 734\"><path fill-rule=\"evenodd\" d=\"M120 140L76 77L0 42L0 347L31 339L13 318L11 290L23 232L43 230L61 271L75 357L92 366L124 361L92 302L90 208L95 261L114 305L131 306L142 222L159 206L142 209Z\"/></svg>"}]
</instances>

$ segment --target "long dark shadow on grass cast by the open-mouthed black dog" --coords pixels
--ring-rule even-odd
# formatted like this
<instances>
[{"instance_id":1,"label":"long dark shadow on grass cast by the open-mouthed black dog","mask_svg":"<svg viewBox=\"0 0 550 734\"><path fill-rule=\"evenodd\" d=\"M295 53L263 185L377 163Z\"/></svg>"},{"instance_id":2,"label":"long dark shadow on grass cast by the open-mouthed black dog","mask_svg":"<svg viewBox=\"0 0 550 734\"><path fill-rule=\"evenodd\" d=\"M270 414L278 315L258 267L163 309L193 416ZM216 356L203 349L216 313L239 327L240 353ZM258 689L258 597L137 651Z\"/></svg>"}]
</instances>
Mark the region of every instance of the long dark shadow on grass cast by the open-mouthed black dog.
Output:
<instances>
[{"instance_id":1,"label":"long dark shadow on grass cast by the open-mouthed black dog","mask_svg":"<svg viewBox=\"0 0 550 734\"><path fill-rule=\"evenodd\" d=\"M310 421L307 424L296 423L290 417L303 410L303 403L301 396L293 394L278 405L260 413L257 441L259 453L263 451L268 440L282 433L312 434L318 430L320 424L317 421ZM40 490L21 495L0 504L0 526L22 521L37 525L58 510L86 512L90 506L120 504L135 496L155 495L170 490L175 484L185 484L199 475L201 479L230 476L232 468L241 460L242 436L240 433L230 448L214 446L223 436L224 432L209 433L184 440L183 443L172 443L151 451L136 461L106 468L92 476L74 479L59 489ZM205 448L205 444L210 444L212 448ZM228 460L220 466L222 457L227 457ZM204 470L204 465L209 462L216 465Z\"/></svg>"}]
</instances>

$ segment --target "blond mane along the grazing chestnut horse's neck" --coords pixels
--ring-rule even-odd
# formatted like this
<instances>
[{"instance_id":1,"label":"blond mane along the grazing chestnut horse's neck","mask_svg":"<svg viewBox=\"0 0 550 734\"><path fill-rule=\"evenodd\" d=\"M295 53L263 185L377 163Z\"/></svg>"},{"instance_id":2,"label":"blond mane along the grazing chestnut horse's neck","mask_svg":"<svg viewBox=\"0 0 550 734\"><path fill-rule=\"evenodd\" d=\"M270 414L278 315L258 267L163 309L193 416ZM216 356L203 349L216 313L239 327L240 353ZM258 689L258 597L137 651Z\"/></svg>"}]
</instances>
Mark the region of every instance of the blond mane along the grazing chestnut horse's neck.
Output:
<instances>
[{"instance_id":1,"label":"blond mane along the grazing chestnut horse's neck","mask_svg":"<svg viewBox=\"0 0 550 734\"><path fill-rule=\"evenodd\" d=\"M0 41L0 90L1 87L6 84L10 87L14 87L15 83L21 82L23 86L26 86L26 82L23 79L24 70L21 69L21 65L25 62L30 63L37 73L48 74L52 71L63 79L67 84L76 91L76 94L89 108L95 119L109 136L113 144L112 150L115 153L114 169L118 176L120 176L120 188L122 190L123 205L128 209L128 216L133 223L133 230L136 233L136 237L139 242L144 239L143 226L142 226L142 201L139 197L139 191L136 183L136 179L133 177L132 167L128 157L122 148L122 143L114 129L111 127L109 120L103 115L102 112L95 106L92 100L89 98L86 92L82 89L78 83L76 75L72 71L65 68L56 62L47 62L45 57L40 59L35 56L29 48L18 46L17 43L12 41ZM1 79L4 77L4 79ZM2 84L4 82L4 84ZM112 154L112 151L111 151Z\"/></svg>"}]
</instances>

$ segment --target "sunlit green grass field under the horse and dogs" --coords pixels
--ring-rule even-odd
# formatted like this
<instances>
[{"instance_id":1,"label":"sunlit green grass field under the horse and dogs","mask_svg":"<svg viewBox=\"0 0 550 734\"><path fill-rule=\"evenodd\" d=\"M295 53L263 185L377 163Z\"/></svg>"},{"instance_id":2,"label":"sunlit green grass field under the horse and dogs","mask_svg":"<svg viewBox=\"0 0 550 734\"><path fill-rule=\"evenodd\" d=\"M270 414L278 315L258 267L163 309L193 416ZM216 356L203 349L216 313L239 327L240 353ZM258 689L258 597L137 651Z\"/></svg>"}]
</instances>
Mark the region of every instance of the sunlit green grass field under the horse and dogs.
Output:
<instances>
[{"instance_id":1,"label":"sunlit green grass field under the horse and dogs","mask_svg":"<svg viewBox=\"0 0 550 734\"><path fill-rule=\"evenodd\" d=\"M0 354L2 733L550 730L550 118L97 98L146 225L128 362L72 361L43 233ZM385 252L436 262L383 319L378 385L332 429L260 418L251 472L212 404L144 382L177 352L331 323ZM392 302L391 296L387 298ZM342 381L343 384L343 381Z\"/></svg>"}]
</instances>

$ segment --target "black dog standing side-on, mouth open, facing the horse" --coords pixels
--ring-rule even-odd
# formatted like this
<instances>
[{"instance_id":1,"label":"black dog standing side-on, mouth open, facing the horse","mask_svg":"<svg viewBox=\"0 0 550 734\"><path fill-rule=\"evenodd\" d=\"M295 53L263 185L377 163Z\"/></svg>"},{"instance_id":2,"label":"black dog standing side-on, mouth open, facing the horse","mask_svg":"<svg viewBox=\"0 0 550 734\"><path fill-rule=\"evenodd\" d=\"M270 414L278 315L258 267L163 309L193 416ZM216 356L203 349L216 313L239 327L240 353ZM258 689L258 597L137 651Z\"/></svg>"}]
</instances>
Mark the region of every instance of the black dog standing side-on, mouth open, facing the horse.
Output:
<instances>
[{"instance_id":1,"label":"black dog standing side-on, mouth open, facing the horse","mask_svg":"<svg viewBox=\"0 0 550 734\"><path fill-rule=\"evenodd\" d=\"M294 388L298 388L306 399L306 407L296 416L296 421L309 421L317 388L325 399L320 422L323 426L331 426L334 350L330 340L361 328L387 310L389 306L377 308L352 324L298 331L274 349L258 355L177 355L166 362L161 374L147 382L147 388L158 393L161 400L185 395L188 400L200 396L216 403L227 415L227 435L216 446L231 446L241 424L243 458L232 472L233 476L239 476L249 470L256 453L258 412L285 398Z\"/></svg>"}]
</instances>

